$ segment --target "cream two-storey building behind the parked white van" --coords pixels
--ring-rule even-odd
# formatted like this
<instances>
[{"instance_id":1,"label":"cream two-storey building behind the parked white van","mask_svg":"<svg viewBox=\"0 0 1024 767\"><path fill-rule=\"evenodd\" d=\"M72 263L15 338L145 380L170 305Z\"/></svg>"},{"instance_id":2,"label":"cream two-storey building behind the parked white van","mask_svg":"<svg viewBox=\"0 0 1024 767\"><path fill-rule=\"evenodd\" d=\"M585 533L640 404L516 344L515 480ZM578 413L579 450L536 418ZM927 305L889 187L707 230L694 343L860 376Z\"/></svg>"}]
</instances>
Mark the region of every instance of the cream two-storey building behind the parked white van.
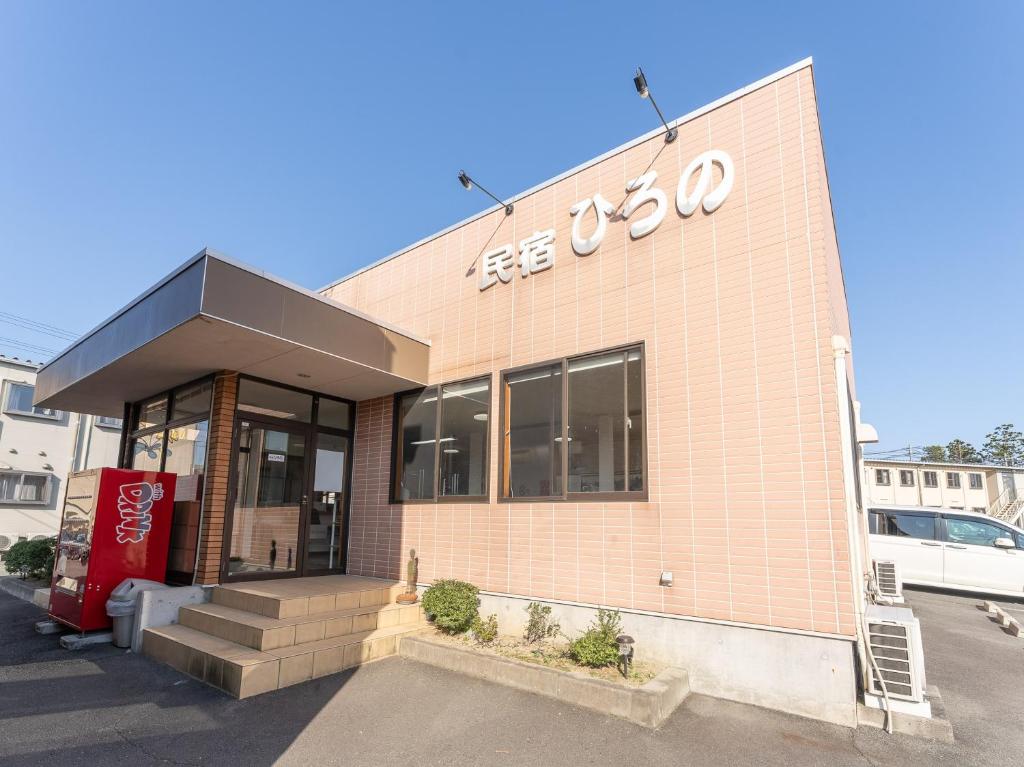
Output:
<instances>
[{"instance_id":1,"label":"cream two-storey building behind the parked white van","mask_svg":"<svg viewBox=\"0 0 1024 767\"><path fill-rule=\"evenodd\" d=\"M1024 467L864 460L868 505L933 506L1005 516L1024 498Z\"/></svg>"}]
</instances>

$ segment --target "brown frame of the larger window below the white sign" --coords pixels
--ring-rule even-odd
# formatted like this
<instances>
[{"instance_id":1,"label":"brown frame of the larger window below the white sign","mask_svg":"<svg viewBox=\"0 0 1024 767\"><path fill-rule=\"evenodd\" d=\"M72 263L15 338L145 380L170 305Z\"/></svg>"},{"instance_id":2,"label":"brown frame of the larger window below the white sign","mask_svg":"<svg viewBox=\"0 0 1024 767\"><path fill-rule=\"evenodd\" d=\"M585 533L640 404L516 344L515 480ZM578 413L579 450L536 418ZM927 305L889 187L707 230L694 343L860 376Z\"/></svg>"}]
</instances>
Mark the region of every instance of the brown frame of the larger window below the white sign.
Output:
<instances>
[{"instance_id":1,"label":"brown frame of the larger window below the white sign","mask_svg":"<svg viewBox=\"0 0 1024 767\"><path fill-rule=\"evenodd\" d=\"M641 414L641 429L643 434L643 440L641 442L641 461L643 462L643 471L641 472L643 487L639 491L604 491L597 493L569 493L568 491L568 428L569 428L569 380L568 380L568 364L570 360L586 359L592 356L601 356L603 354L611 354L616 351L627 353L630 351L638 351L640 353L640 397L643 403L643 413ZM628 360L628 357L627 357ZM506 493L507 480L508 480L508 432L506 431L506 424L508 423L508 394L507 394L507 380L509 376L514 376L519 373L525 373L529 370L536 368L550 368L556 365L560 365L562 369L562 434L559 445L561 448L561 468L562 468L562 493L557 496L509 496ZM623 381L624 387L628 386L628 375L629 375L629 365L623 366ZM499 503L634 503L648 500L648 468L649 459L647 455L647 350L645 343L643 341L637 341L634 343L620 344L618 346L611 346L606 349L596 349L594 351L588 351L582 354L570 354L563 357L555 357L554 359L546 359L537 363L530 363L529 365L520 365L515 368L506 368L498 374L498 423L500 425L499 440L498 440L498 502ZM629 420L629 392L628 389L624 388L624 403L623 403L623 425L625 427L626 422ZM629 438L626 437L626 462L623 467L623 472L626 477L627 487L629 486L629 476L630 476L630 466L629 466Z\"/></svg>"}]
</instances>

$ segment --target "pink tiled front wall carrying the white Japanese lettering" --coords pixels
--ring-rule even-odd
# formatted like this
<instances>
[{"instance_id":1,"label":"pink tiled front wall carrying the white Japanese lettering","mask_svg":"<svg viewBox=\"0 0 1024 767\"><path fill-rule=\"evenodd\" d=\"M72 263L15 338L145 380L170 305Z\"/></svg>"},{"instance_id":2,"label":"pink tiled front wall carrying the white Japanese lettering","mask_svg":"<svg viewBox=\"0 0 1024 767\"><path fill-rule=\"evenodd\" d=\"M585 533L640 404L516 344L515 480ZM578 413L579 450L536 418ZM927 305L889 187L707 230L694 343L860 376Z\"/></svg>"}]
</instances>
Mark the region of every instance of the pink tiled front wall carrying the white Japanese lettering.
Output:
<instances>
[{"instance_id":1,"label":"pink tiled front wall carrying the white Japanese lettering","mask_svg":"<svg viewBox=\"0 0 1024 767\"><path fill-rule=\"evenodd\" d=\"M730 154L735 184L714 214L684 219L678 178L709 148ZM659 228L632 241L612 220L577 256L569 208L596 191L621 205L648 168L669 198ZM478 290L482 252L549 227L554 268ZM349 570L399 577L415 547L424 581L852 634L839 270L808 68L680 126L672 144L626 150L513 216L482 216L335 286L332 298L429 338L432 382L639 341L647 364L644 503L389 505L392 403L360 402Z\"/></svg>"}]
</instances>

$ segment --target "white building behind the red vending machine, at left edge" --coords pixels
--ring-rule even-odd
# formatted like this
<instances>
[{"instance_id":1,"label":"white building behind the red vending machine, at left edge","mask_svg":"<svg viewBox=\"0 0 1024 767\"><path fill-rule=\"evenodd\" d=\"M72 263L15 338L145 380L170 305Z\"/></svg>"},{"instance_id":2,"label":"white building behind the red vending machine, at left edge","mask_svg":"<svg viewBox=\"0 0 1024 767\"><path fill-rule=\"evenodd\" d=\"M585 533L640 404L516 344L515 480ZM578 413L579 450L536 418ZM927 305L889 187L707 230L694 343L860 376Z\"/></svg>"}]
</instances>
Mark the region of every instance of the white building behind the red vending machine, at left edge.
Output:
<instances>
[{"instance_id":1,"label":"white building behind the red vending machine, at left edge","mask_svg":"<svg viewBox=\"0 0 1024 767\"><path fill-rule=\"evenodd\" d=\"M0 551L56 535L69 471L118 464L120 419L32 406L41 367L0 354Z\"/></svg>"}]
</instances>

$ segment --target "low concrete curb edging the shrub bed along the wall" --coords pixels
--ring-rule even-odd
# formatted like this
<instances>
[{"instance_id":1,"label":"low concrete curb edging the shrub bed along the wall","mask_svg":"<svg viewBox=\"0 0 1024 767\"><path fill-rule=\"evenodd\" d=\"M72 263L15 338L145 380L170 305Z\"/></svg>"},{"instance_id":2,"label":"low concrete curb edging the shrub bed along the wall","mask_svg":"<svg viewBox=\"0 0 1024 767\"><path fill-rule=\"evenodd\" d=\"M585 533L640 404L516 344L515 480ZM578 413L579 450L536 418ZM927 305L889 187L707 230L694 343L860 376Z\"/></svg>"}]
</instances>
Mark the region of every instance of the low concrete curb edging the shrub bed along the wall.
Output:
<instances>
[{"instance_id":1,"label":"low concrete curb edging the shrub bed along the wall","mask_svg":"<svg viewBox=\"0 0 1024 767\"><path fill-rule=\"evenodd\" d=\"M642 687L626 687L581 672L558 671L474 652L422 636L402 639L398 652L411 661L547 695L572 706L622 717L643 727L662 724L690 691L689 678L682 669L666 669Z\"/></svg>"}]
</instances>

